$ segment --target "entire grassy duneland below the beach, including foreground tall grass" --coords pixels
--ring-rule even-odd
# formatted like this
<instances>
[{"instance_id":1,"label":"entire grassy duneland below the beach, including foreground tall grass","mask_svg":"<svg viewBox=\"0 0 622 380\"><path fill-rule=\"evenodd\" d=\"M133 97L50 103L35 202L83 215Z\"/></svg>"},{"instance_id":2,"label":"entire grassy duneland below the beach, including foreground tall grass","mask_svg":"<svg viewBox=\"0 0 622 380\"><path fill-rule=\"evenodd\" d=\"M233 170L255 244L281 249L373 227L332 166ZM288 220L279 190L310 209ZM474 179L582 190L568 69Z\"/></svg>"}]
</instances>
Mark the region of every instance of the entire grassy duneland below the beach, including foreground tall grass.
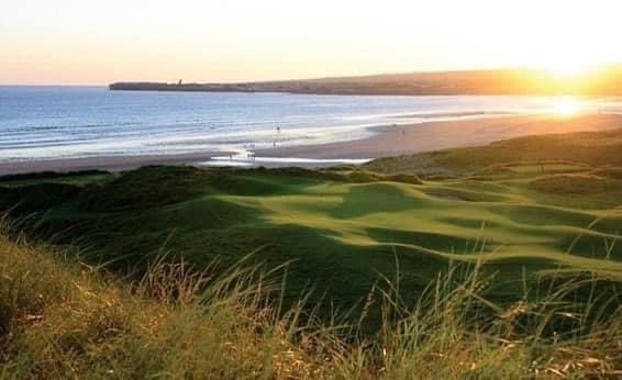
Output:
<instances>
[{"instance_id":1,"label":"entire grassy duneland below the beach, including foreground tall grass","mask_svg":"<svg viewBox=\"0 0 622 380\"><path fill-rule=\"evenodd\" d=\"M3 282L9 292L0 305L7 373L25 371L29 360L51 364L41 373L68 373L60 364L70 355L78 371L107 362L102 371L120 377L204 370L220 373L208 377L287 378L273 361L281 360L281 348L303 368L292 377L615 373L622 360L621 145L622 133L613 131L324 170L153 166L2 178L0 209L12 232L2 235L8 256L0 276L14 281ZM14 231L46 248L14 243L21 236ZM15 260L42 264L31 272ZM47 326L38 322L48 321L41 310L70 313L67 300L80 297L71 283L103 294L93 295L93 308L96 299L118 294L103 309L129 313L111 327L129 329L101 337L87 323L78 340L89 346L76 350L49 350L63 334L23 340ZM22 297L24 306L13 301ZM73 317L58 316L48 328L65 328ZM224 353L219 345L225 343L242 353L237 346L246 340L262 355L208 354ZM155 360L165 355L162 342L179 350L164 367L119 357L152 347L134 361Z\"/></svg>"}]
</instances>

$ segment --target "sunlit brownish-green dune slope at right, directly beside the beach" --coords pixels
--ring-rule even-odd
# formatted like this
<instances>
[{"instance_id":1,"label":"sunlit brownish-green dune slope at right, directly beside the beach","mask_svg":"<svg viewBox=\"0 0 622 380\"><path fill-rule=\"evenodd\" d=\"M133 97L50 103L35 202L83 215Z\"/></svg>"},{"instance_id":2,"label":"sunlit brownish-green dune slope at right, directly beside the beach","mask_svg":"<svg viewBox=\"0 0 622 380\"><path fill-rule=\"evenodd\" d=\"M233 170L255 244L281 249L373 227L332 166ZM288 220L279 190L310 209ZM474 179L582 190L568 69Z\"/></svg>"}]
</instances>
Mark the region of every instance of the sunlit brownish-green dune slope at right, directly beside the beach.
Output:
<instances>
[{"instance_id":1,"label":"sunlit brownish-green dune slope at right, directly beside the beach","mask_svg":"<svg viewBox=\"0 0 622 380\"><path fill-rule=\"evenodd\" d=\"M367 168L381 172L465 175L544 175L597 170L621 178L622 130L549 134L501 141L487 146L455 148L411 156L379 158ZM533 164L521 171L521 166ZM544 171L540 164L548 164ZM554 165L554 166L551 166ZM526 170L526 172L525 172ZM538 172L540 171L540 172ZM617 176L618 172L618 176Z\"/></svg>"}]
</instances>

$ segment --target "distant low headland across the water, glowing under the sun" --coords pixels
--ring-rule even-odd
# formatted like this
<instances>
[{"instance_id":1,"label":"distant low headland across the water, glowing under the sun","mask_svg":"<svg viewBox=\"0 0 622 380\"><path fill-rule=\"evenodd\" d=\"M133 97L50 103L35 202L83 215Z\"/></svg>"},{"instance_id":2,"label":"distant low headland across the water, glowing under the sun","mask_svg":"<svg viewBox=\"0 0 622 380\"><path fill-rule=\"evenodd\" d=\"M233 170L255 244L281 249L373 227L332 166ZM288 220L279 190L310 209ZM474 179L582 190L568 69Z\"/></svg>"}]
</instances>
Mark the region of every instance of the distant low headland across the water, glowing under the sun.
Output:
<instances>
[{"instance_id":1,"label":"distant low headland across the water, glowing under the sun","mask_svg":"<svg viewBox=\"0 0 622 380\"><path fill-rule=\"evenodd\" d=\"M240 83L116 82L111 90L236 91L319 94L581 94L622 96L622 64L577 75L502 69L385 74Z\"/></svg>"}]
</instances>

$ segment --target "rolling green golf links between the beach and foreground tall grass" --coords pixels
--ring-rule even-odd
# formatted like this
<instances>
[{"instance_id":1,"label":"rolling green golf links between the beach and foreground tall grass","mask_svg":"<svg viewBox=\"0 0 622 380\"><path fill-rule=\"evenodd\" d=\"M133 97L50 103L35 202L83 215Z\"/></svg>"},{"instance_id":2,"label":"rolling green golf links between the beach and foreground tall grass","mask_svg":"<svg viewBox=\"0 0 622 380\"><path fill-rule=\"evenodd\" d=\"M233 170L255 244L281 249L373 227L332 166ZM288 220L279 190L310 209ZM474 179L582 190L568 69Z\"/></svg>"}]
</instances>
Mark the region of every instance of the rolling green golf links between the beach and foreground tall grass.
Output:
<instances>
[{"instance_id":1,"label":"rolling green golf links between the beach and foreground tall grass","mask_svg":"<svg viewBox=\"0 0 622 380\"><path fill-rule=\"evenodd\" d=\"M166 253L221 269L252 254L288 262L288 298L312 290L347 309L382 276L399 273L416 299L449 262L482 262L491 297L514 300L552 272L622 277L621 136L526 137L320 171L13 176L0 181L0 206L124 271Z\"/></svg>"}]
</instances>

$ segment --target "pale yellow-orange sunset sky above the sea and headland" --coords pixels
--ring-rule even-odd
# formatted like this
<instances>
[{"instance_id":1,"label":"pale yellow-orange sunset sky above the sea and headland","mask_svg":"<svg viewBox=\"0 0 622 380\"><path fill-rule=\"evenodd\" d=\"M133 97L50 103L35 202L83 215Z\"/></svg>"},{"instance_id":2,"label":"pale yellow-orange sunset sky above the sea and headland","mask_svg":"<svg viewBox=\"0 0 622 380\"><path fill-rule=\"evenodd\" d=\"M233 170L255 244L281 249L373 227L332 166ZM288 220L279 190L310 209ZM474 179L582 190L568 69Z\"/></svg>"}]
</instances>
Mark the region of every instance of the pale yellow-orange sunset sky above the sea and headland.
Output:
<instances>
[{"instance_id":1,"label":"pale yellow-orange sunset sky above the sea and headland","mask_svg":"<svg viewBox=\"0 0 622 380\"><path fill-rule=\"evenodd\" d=\"M1 0L0 83L247 81L622 62L621 0Z\"/></svg>"}]
</instances>

